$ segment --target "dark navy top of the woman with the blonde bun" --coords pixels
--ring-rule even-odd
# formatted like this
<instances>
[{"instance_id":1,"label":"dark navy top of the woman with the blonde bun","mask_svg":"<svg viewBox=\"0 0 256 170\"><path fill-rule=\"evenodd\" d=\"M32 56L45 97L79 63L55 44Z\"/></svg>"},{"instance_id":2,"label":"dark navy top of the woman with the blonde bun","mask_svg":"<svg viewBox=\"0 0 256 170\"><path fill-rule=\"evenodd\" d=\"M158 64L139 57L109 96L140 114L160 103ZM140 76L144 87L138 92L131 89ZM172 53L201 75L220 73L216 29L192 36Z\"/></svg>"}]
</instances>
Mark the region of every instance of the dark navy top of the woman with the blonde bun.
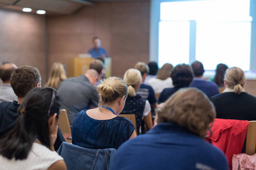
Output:
<instances>
[{"instance_id":1,"label":"dark navy top of the woman with the blonde bun","mask_svg":"<svg viewBox=\"0 0 256 170\"><path fill-rule=\"evenodd\" d=\"M79 112L72 126L72 143L85 148L115 148L127 141L135 130L133 123L124 117L95 120Z\"/></svg>"}]
</instances>

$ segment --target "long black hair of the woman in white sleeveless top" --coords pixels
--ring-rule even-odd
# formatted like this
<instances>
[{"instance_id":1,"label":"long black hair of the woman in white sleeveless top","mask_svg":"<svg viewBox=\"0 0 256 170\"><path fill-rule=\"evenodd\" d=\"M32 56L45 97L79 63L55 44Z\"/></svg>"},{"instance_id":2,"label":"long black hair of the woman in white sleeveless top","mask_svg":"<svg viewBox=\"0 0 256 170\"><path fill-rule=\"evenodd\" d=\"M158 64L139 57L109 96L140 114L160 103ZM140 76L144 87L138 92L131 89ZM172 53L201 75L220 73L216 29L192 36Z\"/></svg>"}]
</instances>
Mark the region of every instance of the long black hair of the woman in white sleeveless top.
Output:
<instances>
[{"instance_id":1,"label":"long black hair of the woman in white sleeveless top","mask_svg":"<svg viewBox=\"0 0 256 170\"><path fill-rule=\"evenodd\" d=\"M14 128L0 139L0 155L26 159L36 138L50 148L48 119L55 113L58 118L60 111L59 96L53 97L53 93L52 88L34 88L28 92L18 109L20 116Z\"/></svg>"}]
</instances>

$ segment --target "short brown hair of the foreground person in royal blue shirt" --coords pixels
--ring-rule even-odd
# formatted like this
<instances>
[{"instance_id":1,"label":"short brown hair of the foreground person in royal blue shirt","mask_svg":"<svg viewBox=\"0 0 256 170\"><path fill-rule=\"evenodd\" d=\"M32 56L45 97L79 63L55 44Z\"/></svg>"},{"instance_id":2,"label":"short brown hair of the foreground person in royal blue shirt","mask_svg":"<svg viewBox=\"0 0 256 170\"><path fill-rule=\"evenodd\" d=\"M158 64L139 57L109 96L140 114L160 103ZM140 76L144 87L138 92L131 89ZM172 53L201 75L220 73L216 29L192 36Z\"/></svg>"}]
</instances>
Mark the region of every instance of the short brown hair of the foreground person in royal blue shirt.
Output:
<instances>
[{"instance_id":1,"label":"short brown hair of the foreground person in royal blue shirt","mask_svg":"<svg viewBox=\"0 0 256 170\"><path fill-rule=\"evenodd\" d=\"M203 92L196 88L183 88L159 109L157 121L176 123L205 138L209 124L215 117L214 106Z\"/></svg>"}]
</instances>

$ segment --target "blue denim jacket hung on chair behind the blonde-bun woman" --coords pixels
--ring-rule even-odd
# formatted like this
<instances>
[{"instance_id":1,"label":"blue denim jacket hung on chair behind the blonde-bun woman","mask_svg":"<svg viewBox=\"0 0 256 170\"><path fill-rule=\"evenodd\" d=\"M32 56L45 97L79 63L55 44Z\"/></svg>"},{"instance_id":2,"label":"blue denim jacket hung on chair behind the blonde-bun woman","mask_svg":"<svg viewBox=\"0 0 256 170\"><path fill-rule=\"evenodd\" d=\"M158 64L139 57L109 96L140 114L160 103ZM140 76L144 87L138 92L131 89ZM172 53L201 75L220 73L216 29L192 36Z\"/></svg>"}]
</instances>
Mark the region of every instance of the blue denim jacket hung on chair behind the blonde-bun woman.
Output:
<instances>
[{"instance_id":1,"label":"blue denim jacket hung on chair behind the blonde-bun woman","mask_svg":"<svg viewBox=\"0 0 256 170\"><path fill-rule=\"evenodd\" d=\"M115 148L92 149L63 142L57 153L64 159L68 170L110 169Z\"/></svg>"}]
</instances>

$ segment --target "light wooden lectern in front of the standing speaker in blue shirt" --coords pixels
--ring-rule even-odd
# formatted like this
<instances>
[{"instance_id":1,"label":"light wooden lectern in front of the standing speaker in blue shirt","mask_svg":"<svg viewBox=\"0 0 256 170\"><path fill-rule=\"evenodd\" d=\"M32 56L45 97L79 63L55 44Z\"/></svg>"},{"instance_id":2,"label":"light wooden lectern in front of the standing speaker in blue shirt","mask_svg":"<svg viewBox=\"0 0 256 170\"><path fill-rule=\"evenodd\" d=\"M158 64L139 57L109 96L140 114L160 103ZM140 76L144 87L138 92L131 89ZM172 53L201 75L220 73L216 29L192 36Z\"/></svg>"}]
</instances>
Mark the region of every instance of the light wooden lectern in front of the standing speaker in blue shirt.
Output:
<instances>
[{"instance_id":1,"label":"light wooden lectern in front of the standing speaker in blue shirt","mask_svg":"<svg viewBox=\"0 0 256 170\"><path fill-rule=\"evenodd\" d=\"M68 60L68 70L67 76L79 76L84 74L90 66L90 63L94 60L94 58L69 58ZM111 76L111 58L105 58L105 76L108 78Z\"/></svg>"}]
</instances>

